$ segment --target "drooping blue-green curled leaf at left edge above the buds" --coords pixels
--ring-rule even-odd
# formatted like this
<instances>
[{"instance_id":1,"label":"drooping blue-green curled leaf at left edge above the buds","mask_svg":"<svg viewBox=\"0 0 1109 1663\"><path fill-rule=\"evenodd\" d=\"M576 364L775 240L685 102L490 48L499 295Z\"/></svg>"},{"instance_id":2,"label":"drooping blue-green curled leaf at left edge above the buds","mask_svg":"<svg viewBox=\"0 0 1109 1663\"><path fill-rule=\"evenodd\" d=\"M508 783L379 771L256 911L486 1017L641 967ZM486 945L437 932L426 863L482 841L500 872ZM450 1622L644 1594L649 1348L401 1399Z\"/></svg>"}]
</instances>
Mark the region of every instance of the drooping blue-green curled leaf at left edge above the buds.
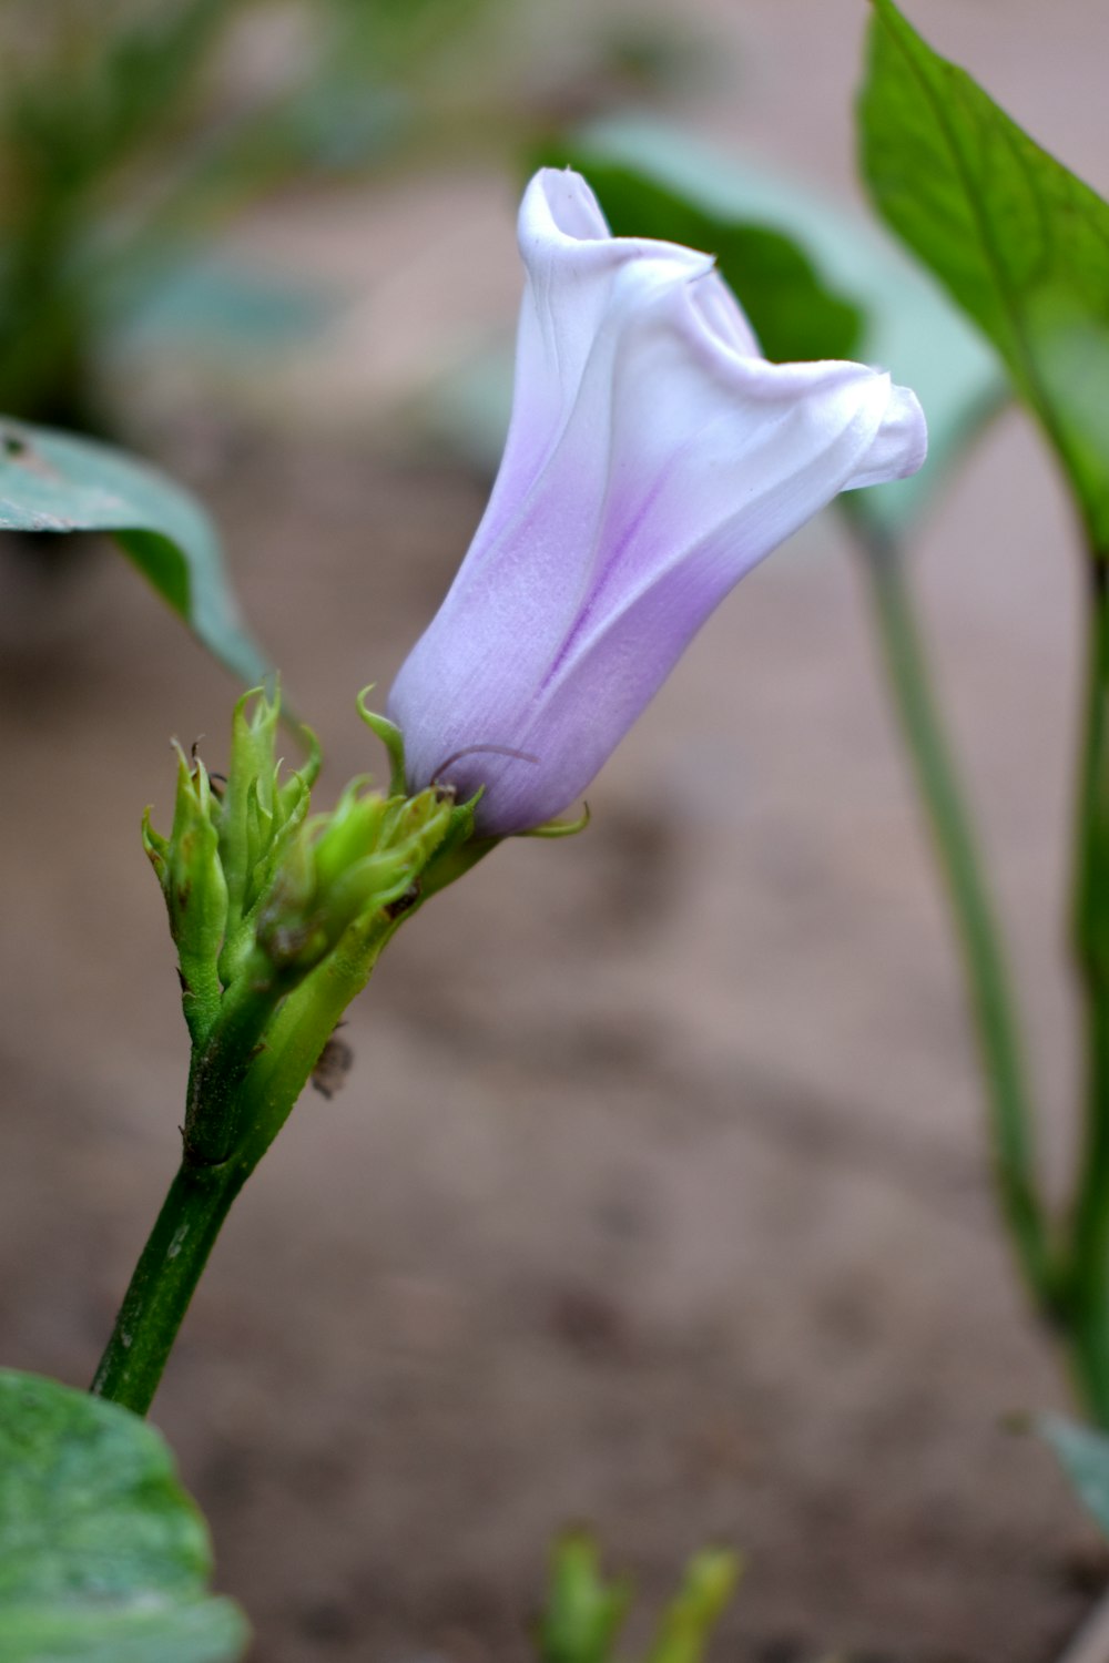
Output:
<instances>
[{"instance_id":1,"label":"drooping blue-green curled leaf at left edge above the buds","mask_svg":"<svg viewBox=\"0 0 1109 1663\"><path fill-rule=\"evenodd\" d=\"M0 417L0 530L111 532L209 652L244 682L268 664L239 619L216 530L200 504L145 462Z\"/></svg>"}]
</instances>

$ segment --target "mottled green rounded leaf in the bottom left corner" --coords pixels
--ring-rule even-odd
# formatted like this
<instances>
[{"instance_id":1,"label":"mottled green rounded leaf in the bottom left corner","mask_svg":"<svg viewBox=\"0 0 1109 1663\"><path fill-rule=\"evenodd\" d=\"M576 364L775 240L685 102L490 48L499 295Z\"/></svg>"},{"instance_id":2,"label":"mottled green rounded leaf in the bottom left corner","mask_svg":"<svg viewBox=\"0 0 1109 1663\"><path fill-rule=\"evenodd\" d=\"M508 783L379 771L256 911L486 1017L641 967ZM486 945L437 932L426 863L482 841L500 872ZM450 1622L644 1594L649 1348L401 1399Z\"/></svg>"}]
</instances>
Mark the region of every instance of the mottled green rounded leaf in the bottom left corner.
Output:
<instances>
[{"instance_id":1,"label":"mottled green rounded leaf in the bottom left corner","mask_svg":"<svg viewBox=\"0 0 1109 1663\"><path fill-rule=\"evenodd\" d=\"M233 1663L246 1621L163 1438L57 1380L0 1370L3 1663Z\"/></svg>"}]
</instances>

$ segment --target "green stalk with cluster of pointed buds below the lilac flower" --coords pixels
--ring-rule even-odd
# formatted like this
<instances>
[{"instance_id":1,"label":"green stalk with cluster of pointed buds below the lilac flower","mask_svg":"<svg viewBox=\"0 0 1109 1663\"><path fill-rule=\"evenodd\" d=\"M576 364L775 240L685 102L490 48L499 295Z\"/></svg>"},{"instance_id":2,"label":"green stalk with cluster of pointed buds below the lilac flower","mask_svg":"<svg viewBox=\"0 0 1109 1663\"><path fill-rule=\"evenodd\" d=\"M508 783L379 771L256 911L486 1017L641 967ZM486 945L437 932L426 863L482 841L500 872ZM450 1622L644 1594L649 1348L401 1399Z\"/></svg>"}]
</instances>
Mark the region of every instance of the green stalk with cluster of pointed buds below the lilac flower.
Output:
<instances>
[{"instance_id":1,"label":"green stalk with cluster of pointed buds below the lilac flower","mask_svg":"<svg viewBox=\"0 0 1109 1663\"><path fill-rule=\"evenodd\" d=\"M308 762L286 770L279 697L256 688L234 708L226 778L178 745L170 835L143 817L193 1054L181 1166L93 1382L140 1414L234 1197L343 1011L404 920L494 841L474 838L474 803L451 790L397 790L401 738L359 710L389 748L387 793L357 778L313 815L319 747L304 732Z\"/></svg>"}]
</instances>

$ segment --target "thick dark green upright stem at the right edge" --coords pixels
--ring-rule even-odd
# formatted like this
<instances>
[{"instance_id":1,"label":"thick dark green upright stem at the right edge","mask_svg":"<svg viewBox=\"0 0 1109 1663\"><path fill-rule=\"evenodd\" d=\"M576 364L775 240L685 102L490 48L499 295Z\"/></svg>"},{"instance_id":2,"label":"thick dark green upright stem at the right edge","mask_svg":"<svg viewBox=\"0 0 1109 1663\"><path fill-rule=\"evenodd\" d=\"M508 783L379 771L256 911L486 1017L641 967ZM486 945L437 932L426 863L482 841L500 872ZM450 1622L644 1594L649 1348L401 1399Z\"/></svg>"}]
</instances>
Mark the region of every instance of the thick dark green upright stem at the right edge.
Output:
<instances>
[{"instance_id":1,"label":"thick dark green upright stem at the right edge","mask_svg":"<svg viewBox=\"0 0 1109 1663\"><path fill-rule=\"evenodd\" d=\"M1074 951L1084 994L1086 1118L1067 1259L1074 1374L1109 1425L1109 567L1089 565L1086 732L1074 861Z\"/></svg>"}]
</instances>

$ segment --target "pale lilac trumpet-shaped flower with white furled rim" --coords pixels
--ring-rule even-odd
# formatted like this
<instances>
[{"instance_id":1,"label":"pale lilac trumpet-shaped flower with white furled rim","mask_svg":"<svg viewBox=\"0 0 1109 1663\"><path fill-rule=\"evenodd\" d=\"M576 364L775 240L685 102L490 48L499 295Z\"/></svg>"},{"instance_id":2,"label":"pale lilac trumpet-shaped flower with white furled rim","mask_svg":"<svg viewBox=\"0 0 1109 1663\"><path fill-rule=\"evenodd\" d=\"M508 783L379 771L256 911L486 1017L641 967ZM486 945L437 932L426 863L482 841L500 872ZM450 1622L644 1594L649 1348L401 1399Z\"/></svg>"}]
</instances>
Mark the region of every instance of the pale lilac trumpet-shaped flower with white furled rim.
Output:
<instances>
[{"instance_id":1,"label":"pale lilac trumpet-shaped flower with white furled rim","mask_svg":"<svg viewBox=\"0 0 1109 1663\"><path fill-rule=\"evenodd\" d=\"M389 695L409 788L484 788L489 836L575 802L740 577L926 452L913 392L768 363L708 254L614 238L579 175L532 180L519 239L504 459Z\"/></svg>"}]
</instances>

